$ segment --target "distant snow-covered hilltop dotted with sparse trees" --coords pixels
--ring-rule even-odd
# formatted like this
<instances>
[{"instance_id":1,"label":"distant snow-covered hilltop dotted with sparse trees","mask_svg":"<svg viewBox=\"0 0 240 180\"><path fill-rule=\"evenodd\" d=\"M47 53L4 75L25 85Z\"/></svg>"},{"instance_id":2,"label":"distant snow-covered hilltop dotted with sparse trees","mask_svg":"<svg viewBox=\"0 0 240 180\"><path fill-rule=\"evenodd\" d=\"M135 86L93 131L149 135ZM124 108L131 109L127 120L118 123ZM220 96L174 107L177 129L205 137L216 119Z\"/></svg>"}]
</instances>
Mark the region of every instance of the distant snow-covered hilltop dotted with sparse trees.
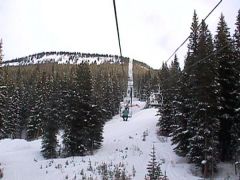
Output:
<instances>
[{"instance_id":1,"label":"distant snow-covered hilltop dotted with sparse trees","mask_svg":"<svg viewBox=\"0 0 240 180\"><path fill-rule=\"evenodd\" d=\"M128 61L129 58L123 57L122 61ZM117 55L109 54L91 54L91 53L80 53L80 52L41 52L37 54L32 54L29 56L16 58L8 61L4 61L3 64L9 66L18 65L30 65L30 64L44 64L44 63L57 63L57 64L80 64L82 62L88 62L89 64L96 63L114 63L119 64L121 62L120 57ZM145 63L134 60L135 63L150 68Z\"/></svg>"}]
</instances>

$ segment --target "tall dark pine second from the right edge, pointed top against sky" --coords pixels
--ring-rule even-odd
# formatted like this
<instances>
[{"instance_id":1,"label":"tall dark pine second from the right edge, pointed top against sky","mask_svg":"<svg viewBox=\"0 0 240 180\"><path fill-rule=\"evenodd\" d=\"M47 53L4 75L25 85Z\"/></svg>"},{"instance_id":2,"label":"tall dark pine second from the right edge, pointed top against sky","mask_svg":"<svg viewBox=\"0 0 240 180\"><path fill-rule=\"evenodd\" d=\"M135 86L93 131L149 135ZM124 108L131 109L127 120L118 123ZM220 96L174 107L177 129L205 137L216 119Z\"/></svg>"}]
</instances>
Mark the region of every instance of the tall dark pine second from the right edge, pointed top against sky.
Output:
<instances>
[{"instance_id":1,"label":"tall dark pine second from the right edge, pointed top against sky","mask_svg":"<svg viewBox=\"0 0 240 180\"><path fill-rule=\"evenodd\" d=\"M216 60L219 64L218 83L219 89L219 119L220 119L220 157L222 161L230 160L233 157L233 147L231 147L230 130L233 122L238 121L236 118L237 109L237 84L238 75L234 69L236 61L233 57L233 43L229 33L229 28L221 15L217 26L215 36Z\"/></svg>"}]
</instances>

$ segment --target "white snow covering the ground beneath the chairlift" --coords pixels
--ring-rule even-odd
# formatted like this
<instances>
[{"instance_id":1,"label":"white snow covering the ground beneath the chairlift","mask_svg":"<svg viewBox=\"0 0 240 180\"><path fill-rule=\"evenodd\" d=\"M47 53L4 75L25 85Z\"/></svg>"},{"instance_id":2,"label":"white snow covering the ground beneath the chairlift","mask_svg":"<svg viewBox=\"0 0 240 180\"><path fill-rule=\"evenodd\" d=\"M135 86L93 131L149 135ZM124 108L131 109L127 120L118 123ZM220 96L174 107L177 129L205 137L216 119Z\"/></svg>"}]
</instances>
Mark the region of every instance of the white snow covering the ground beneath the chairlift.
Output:
<instances>
[{"instance_id":1,"label":"white snow covering the ground beneath the chairlift","mask_svg":"<svg viewBox=\"0 0 240 180\"><path fill-rule=\"evenodd\" d=\"M102 179L98 174L99 167L106 164L109 169L124 164L127 174L132 179L143 180L147 174L149 154L154 144L157 160L162 163L170 180L195 180L191 165L184 158L173 152L169 138L156 135L158 116L154 108L143 109L145 103L133 102L133 116L127 122L115 116L104 127L104 142L101 149L93 156L59 158L44 160L41 156L41 140L4 139L0 141L0 162L4 170L4 180L63 180L82 179L82 174ZM145 134L145 141L143 140ZM90 166L91 164L91 166ZM232 165L228 164L221 177L232 176ZM226 169L221 165L221 169ZM224 173L223 173L224 172ZM224 178L219 178L224 179ZM231 178L230 178L231 179ZM232 178L234 179L234 178Z\"/></svg>"}]
</instances>

